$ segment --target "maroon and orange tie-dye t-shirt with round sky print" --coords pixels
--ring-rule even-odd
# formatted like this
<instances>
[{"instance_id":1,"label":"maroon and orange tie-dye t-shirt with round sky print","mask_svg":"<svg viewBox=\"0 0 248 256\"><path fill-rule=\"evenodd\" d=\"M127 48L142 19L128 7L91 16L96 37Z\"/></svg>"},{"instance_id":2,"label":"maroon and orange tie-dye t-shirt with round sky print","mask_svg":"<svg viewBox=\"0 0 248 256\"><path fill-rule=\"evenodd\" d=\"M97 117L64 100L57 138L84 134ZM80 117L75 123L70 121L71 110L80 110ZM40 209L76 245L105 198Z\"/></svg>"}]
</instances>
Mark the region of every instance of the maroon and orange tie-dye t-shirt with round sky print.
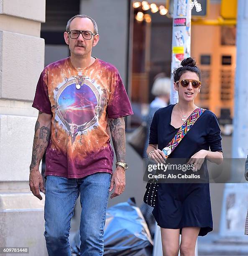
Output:
<instances>
[{"instance_id":1,"label":"maroon and orange tie-dye t-shirt with round sky print","mask_svg":"<svg viewBox=\"0 0 248 256\"><path fill-rule=\"evenodd\" d=\"M109 118L133 114L115 67L100 59L88 69L71 68L70 58L56 61L41 73L33 107L52 115L45 176L112 174Z\"/></svg>"}]
</instances>

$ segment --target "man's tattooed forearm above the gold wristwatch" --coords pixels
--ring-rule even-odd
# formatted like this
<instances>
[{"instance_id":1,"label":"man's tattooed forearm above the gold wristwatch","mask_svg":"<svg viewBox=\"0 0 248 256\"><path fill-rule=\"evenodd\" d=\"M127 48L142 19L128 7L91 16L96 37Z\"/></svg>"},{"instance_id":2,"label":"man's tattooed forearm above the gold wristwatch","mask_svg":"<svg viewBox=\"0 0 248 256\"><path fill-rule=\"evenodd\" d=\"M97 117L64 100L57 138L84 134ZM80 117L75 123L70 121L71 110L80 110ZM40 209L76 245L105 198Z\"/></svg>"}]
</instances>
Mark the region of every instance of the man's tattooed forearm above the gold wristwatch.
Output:
<instances>
[{"instance_id":1,"label":"man's tattooed forearm above the gold wristwatch","mask_svg":"<svg viewBox=\"0 0 248 256\"><path fill-rule=\"evenodd\" d=\"M110 119L110 131L115 148L116 160L125 162L125 122L123 118Z\"/></svg>"}]
</instances>

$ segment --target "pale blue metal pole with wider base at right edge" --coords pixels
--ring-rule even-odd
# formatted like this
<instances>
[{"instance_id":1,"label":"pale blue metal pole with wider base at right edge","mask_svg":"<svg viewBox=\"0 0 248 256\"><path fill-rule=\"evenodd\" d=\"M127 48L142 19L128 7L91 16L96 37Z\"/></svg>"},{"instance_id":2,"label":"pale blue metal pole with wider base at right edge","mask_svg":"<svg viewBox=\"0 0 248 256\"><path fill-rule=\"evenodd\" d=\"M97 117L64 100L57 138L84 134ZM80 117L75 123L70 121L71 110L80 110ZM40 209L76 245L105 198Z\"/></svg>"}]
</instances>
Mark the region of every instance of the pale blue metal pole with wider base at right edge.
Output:
<instances>
[{"instance_id":1,"label":"pale blue metal pole with wider base at right edge","mask_svg":"<svg viewBox=\"0 0 248 256\"><path fill-rule=\"evenodd\" d=\"M238 0L237 23L237 63L235 76L235 108L233 118L233 146L232 157L245 160L248 153L248 1ZM224 156L225 157L225 156ZM232 177L238 171L232 168ZM242 168L241 168L242 169ZM245 216L248 207L247 184L225 184L220 223L220 235L229 237L244 236ZM230 203L231 202L231 203Z\"/></svg>"}]
</instances>

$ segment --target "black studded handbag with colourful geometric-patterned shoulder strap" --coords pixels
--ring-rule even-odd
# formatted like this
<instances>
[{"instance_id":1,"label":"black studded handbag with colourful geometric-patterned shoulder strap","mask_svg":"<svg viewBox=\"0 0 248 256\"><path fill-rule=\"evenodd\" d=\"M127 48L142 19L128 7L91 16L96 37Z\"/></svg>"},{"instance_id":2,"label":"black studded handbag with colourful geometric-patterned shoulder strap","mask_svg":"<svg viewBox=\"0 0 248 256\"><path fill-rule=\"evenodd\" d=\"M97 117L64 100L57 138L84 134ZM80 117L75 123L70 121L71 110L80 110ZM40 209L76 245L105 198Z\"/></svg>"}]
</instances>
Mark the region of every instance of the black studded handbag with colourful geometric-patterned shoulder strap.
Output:
<instances>
[{"instance_id":1,"label":"black studded handbag with colourful geometric-patterned shoulder strap","mask_svg":"<svg viewBox=\"0 0 248 256\"><path fill-rule=\"evenodd\" d=\"M168 145L163 149L163 152L166 156L168 156L174 151L176 146L178 146L179 142L182 141L186 133L190 130L190 128L194 125L194 123L198 120L198 118L205 111L203 108L196 108L191 115L185 120L181 128L177 131L176 135L172 138L172 140L168 143ZM159 171L156 171L155 175L158 175ZM159 179L152 178L149 179L146 184L146 192L143 198L143 201L150 205L151 207L155 207L158 197L158 187L159 187Z\"/></svg>"}]
</instances>

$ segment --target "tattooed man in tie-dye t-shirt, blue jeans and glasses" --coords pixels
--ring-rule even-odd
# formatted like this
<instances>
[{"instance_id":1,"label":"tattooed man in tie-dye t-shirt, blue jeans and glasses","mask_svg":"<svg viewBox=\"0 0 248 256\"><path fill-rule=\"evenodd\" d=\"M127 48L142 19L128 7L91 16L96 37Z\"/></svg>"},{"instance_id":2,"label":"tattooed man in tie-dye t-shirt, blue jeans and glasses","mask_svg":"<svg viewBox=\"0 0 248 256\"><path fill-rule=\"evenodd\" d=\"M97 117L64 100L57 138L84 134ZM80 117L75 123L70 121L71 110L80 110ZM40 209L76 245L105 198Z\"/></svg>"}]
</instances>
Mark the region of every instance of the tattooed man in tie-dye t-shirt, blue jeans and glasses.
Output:
<instances>
[{"instance_id":1,"label":"tattooed man in tie-dye t-shirt, blue jeans and glasses","mask_svg":"<svg viewBox=\"0 0 248 256\"><path fill-rule=\"evenodd\" d=\"M86 15L72 17L64 39L71 56L45 67L36 88L33 107L39 115L29 186L42 200L38 166L46 151L44 236L49 256L71 255L70 221L79 194L81 255L98 256L103 254L109 191L114 188L113 198L125 188L123 117L133 112L118 70L91 56L99 41L95 21ZM48 145L38 139L44 129L51 135ZM110 133L117 158L113 174Z\"/></svg>"}]
</instances>

